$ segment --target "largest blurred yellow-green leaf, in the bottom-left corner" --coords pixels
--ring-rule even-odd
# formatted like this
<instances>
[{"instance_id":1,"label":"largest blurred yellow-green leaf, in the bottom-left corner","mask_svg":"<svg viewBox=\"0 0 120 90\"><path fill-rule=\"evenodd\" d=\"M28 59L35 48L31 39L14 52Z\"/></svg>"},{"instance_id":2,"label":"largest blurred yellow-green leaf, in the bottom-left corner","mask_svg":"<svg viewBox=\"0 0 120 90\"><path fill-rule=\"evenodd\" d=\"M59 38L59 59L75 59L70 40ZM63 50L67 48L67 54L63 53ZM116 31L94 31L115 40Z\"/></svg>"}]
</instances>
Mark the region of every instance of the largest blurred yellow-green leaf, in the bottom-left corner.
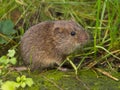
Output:
<instances>
[{"instance_id":1,"label":"largest blurred yellow-green leaf, in the bottom-left corner","mask_svg":"<svg viewBox=\"0 0 120 90\"><path fill-rule=\"evenodd\" d=\"M2 84L1 89L2 90L16 90L17 83L14 81L6 81Z\"/></svg>"}]
</instances>

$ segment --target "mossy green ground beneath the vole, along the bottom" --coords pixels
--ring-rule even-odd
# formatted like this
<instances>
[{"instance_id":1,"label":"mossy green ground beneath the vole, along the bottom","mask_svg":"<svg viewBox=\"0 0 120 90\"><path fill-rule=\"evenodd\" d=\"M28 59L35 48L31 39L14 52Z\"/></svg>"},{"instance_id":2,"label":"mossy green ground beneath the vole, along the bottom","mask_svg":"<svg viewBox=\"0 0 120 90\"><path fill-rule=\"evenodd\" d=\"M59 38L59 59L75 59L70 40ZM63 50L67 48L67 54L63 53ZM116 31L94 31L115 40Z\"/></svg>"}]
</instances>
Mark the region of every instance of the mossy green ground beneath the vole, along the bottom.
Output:
<instances>
[{"instance_id":1,"label":"mossy green ground beneath the vole, along the bottom","mask_svg":"<svg viewBox=\"0 0 120 90\"><path fill-rule=\"evenodd\" d=\"M15 74L14 74L15 73ZM14 80L18 76L17 72L12 72L9 79ZM71 72L61 72L49 70L41 73L22 74L30 77L34 81L32 87L19 90L119 90L120 81L112 80L111 78L102 75L101 73L90 70L80 70L78 75ZM20 75L20 74L19 74ZM113 72L114 76L120 79L120 74ZM8 80L8 79L7 79Z\"/></svg>"}]
</instances>

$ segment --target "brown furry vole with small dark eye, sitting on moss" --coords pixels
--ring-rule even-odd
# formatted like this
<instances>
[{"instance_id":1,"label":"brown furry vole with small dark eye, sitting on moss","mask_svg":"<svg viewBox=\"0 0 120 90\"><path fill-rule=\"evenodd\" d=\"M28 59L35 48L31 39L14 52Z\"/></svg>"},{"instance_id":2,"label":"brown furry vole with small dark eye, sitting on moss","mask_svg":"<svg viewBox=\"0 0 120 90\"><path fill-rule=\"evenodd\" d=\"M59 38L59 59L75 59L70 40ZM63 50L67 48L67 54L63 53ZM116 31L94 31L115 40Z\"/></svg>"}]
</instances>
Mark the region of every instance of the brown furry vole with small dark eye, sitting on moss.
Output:
<instances>
[{"instance_id":1,"label":"brown furry vole with small dark eye, sitting on moss","mask_svg":"<svg viewBox=\"0 0 120 90\"><path fill-rule=\"evenodd\" d=\"M65 57L89 40L89 34L72 20L45 21L30 27L20 49L31 70L58 66Z\"/></svg>"}]
</instances>

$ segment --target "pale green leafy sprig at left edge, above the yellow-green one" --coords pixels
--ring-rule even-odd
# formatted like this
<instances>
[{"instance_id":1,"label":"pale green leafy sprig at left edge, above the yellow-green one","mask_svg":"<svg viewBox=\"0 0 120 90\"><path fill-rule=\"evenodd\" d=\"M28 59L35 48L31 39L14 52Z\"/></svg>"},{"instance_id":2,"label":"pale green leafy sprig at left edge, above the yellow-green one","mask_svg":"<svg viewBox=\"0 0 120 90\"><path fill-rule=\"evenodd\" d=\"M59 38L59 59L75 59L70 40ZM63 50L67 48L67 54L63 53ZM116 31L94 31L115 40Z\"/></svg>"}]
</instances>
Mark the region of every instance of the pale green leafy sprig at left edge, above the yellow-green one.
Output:
<instances>
[{"instance_id":1,"label":"pale green leafy sprig at left edge, above the yellow-green one","mask_svg":"<svg viewBox=\"0 0 120 90\"><path fill-rule=\"evenodd\" d=\"M15 50L13 49L8 50L7 55L3 55L2 57L0 57L0 76L5 74L8 67L16 64L17 60L16 57L14 57L14 55Z\"/></svg>"}]
</instances>

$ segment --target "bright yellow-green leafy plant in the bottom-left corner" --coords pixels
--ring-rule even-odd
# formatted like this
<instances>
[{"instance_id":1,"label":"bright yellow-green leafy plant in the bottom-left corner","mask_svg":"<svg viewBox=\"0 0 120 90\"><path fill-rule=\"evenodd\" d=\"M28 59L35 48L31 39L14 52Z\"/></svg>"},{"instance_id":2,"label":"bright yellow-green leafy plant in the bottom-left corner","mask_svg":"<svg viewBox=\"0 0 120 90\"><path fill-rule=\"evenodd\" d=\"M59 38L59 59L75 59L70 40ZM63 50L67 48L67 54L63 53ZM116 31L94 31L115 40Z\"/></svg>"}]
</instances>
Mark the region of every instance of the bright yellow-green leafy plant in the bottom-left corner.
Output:
<instances>
[{"instance_id":1,"label":"bright yellow-green leafy plant in the bottom-left corner","mask_svg":"<svg viewBox=\"0 0 120 90\"><path fill-rule=\"evenodd\" d=\"M16 88L25 88L26 86L31 87L33 85L33 80L31 78L26 78L25 75L17 77L16 81L6 81L2 83L2 90L16 90Z\"/></svg>"}]
</instances>

